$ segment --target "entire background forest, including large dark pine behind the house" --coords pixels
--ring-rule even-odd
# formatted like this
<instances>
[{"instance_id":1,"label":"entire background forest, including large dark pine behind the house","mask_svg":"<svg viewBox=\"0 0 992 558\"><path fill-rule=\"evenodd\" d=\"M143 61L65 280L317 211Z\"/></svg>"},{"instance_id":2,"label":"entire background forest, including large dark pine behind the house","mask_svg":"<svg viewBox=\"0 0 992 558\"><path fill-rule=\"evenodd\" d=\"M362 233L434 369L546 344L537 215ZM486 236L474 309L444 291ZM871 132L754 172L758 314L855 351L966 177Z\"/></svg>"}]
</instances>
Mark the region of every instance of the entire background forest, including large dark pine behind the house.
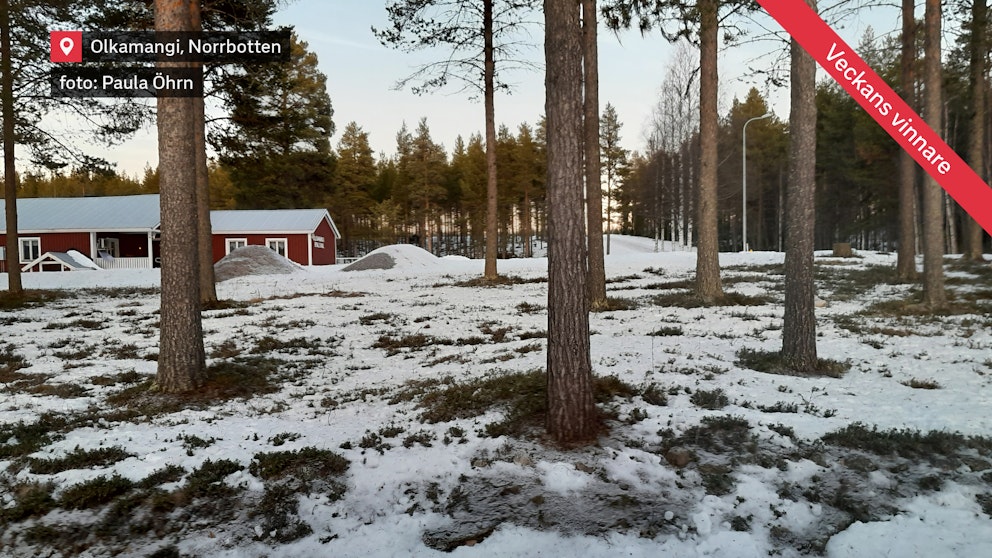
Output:
<instances>
[{"instance_id":1,"label":"entire background forest, including large dark pine behind the house","mask_svg":"<svg viewBox=\"0 0 992 558\"><path fill-rule=\"evenodd\" d=\"M951 10L949 10L951 11ZM966 160L975 107L966 25L950 45L943 68L944 125L938 130ZM899 87L900 36L867 33L857 50L913 106L922 86L906 95ZM917 41L922 60L922 39ZM607 105L600 119L604 222L608 231L670 240L694 239L697 186L698 56L683 43L658 89L654 121L643 151L619 147L623 123ZM276 67L281 66L281 67ZM921 72L916 72L917 76ZM695 81L694 81L695 80ZM215 77L218 98L230 118L214 125L209 165L214 208L326 207L343 238L342 256L360 256L384 244L416 242L437 255L482 257L486 219L485 139L466 133L447 148L421 119L403 123L392 155L375 154L358 122L335 125L326 76L316 56L294 36L293 57L266 72ZM988 82L986 80L986 89ZM276 101L287 96L295 103ZM850 242L856 248L894 250L898 231L900 149L839 86L817 86L816 246ZM986 95L987 103L988 95ZM783 249L788 191L788 124L768 113L765 97L752 89L734 99L720 118L719 231L721 250L739 250L742 205L742 128L747 136L748 246ZM985 111L986 118L992 111ZM543 117L535 124L501 126L496 138L499 256L529 256L545 234L545 139ZM275 122L292 126L275 126ZM992 128L986 125L986 130ZM628 132L632 133L632 132ZM984 142L985 166L992 160ZM99 161L38 166L19 177L19 197L100 196L158 191L157 171L122 176ZM987 176L988 168L980 169ZM922 176L918 176L922 182ZM917 203L919 206L919 203ZM919 222L919 209L916 212ZM966 215L945 195L945 251L960 251ZM917 227L917 231L921 227ZM919 233L917 233L919 235ZM987 238L986 238L987 241Z\"/></svg>"}]
</instances>

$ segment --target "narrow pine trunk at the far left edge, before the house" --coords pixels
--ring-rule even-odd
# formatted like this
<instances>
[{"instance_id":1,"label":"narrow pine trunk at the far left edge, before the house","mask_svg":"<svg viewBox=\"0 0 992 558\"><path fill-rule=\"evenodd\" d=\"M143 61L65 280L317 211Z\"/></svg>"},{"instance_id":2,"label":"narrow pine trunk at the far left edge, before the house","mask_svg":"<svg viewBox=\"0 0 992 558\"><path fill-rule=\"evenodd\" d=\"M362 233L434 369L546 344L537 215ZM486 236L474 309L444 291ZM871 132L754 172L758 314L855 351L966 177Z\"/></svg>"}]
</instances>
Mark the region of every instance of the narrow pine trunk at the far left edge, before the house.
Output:
<instances>
[{"instance_id":1,"label":"narrow pine trunk at the far left edge, before the house","mask_svg":"<svg viewBox=\"0 0 992 558\"><path fill-rule=\"evenodd\" d=\"M7 0L0 0L0 104L3 105L3 191L6 218L7 291L18 295L24 292L21 285L20 246L17 242L17 171L14 168L14 74L11 71L10 8Z\"/></svg>"}]
</instances>

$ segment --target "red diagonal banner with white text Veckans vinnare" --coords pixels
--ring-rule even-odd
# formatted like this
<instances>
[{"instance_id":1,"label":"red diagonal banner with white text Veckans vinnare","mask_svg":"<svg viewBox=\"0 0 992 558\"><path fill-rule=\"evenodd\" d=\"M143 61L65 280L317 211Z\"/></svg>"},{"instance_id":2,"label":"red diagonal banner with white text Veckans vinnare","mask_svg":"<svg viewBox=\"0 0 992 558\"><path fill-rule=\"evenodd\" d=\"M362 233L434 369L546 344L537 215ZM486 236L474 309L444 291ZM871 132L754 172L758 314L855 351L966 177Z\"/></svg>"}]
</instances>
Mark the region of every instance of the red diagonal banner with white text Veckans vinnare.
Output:
<instances>
[{"instance_id":1,"label":"red diagonal banner with white text Veckans vinnare","mask_svg":"<svg viewBox=\"0 0 992 558\"><path fill-rule=\"evenodd\" d=\"M992 188L803 0L758 0L989 234Z\"/></svg>"}]
</instances>

